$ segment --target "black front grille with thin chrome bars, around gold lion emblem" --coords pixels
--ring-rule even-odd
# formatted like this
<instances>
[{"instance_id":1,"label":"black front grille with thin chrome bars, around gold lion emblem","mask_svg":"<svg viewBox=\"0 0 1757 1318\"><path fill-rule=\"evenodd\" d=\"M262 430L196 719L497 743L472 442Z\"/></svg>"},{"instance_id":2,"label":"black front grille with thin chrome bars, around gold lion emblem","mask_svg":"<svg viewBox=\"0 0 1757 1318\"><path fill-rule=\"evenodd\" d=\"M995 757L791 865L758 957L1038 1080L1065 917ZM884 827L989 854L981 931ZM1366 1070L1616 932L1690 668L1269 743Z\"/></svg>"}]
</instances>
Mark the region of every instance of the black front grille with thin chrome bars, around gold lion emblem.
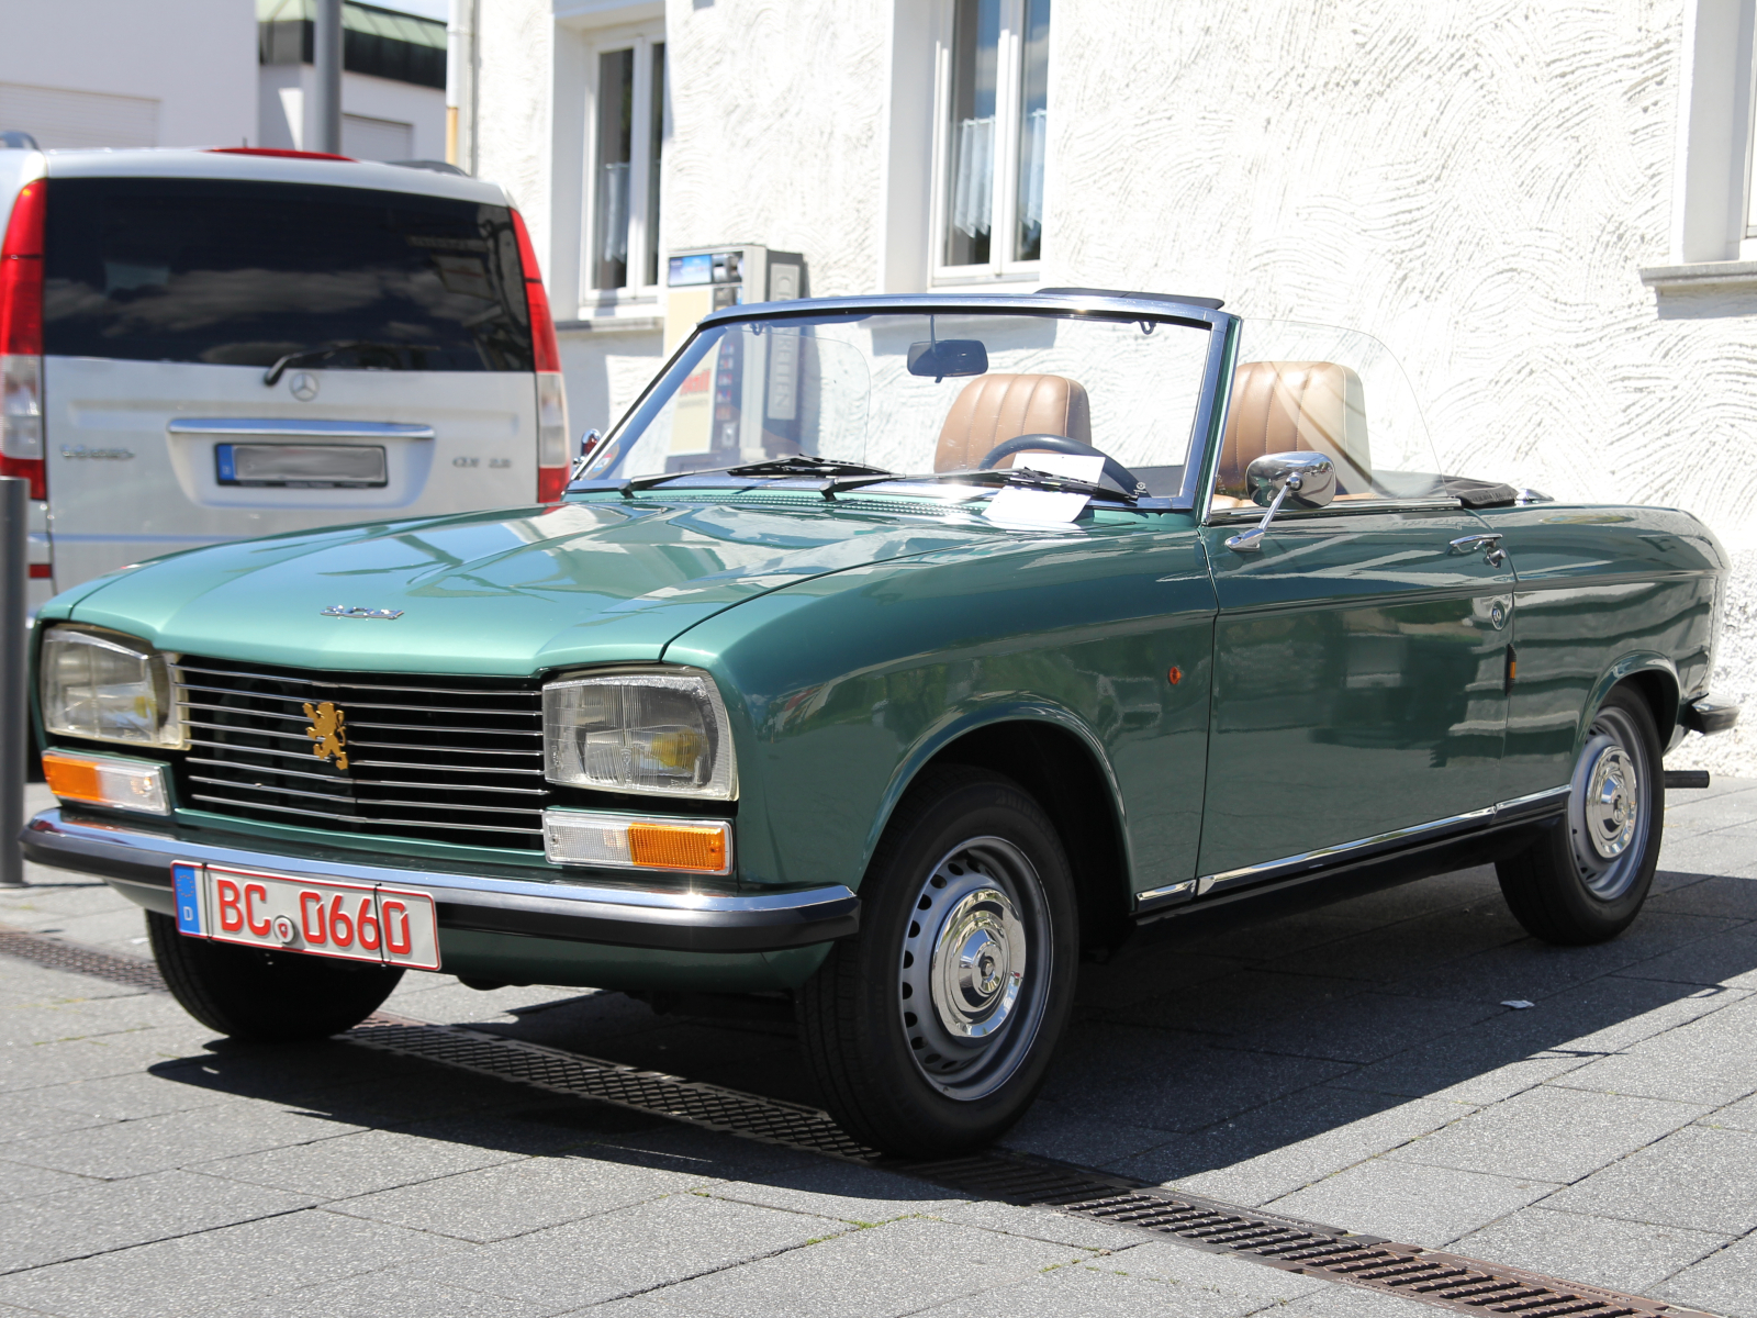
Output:
<instances>
[{"instance_id":1,"label":"black front grille with thin chrome bars, around gold lion emblem","mask_svg":"<svg viewBox=\"0 0 1757 1318\"><path fill-rule=\"evenodd\" d=\"M534 678L307 673L184 655L174 666L197 810L348 833L543 849L543 689ZM346 713L348 768L304 712Z\"/></svg>"}]
</instances>

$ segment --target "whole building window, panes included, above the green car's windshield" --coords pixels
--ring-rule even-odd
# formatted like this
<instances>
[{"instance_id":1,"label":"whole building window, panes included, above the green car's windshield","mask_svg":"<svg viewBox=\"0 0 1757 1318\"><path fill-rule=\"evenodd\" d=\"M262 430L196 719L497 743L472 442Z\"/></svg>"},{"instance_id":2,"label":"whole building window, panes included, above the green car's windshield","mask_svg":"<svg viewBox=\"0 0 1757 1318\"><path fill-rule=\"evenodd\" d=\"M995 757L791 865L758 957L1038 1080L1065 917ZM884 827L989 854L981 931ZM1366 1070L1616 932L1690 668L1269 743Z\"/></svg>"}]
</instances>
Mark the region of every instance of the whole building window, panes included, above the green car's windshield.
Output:
<instances>
[{"instance_id":1,"label":"whole building window, panes included, above the green car's windshield","mask_svg":"<svg viewBox=\"0 0 1757 1318\"><path fill-rule=\"evenodd\" d=\"M1049 5L951 0L940 60L942 276L1007 274L1042 257Z\"/></svg>"}]
</instances>

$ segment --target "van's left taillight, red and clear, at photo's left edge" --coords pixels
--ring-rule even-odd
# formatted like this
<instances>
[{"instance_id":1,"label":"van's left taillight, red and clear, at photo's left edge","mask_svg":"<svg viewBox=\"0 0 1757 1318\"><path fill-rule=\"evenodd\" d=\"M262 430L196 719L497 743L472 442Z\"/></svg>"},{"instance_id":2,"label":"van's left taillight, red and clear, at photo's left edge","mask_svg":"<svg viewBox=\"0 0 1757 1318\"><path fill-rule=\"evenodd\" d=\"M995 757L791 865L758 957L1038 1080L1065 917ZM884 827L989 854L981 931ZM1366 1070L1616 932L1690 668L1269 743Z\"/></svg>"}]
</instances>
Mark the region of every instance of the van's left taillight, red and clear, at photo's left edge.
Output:
<instances>
[{"instance_id":1,"label":"van's left taillight, red and clear, at photo's left edge","mask_svg":"<svg viewBox=\"0 0 1757 1318\"><path fill-rule=\"evenodd\" d=\"M47 499L42 466L42 179L19 188L0 244L0 476Z\"/></svg>"}]
</instances>

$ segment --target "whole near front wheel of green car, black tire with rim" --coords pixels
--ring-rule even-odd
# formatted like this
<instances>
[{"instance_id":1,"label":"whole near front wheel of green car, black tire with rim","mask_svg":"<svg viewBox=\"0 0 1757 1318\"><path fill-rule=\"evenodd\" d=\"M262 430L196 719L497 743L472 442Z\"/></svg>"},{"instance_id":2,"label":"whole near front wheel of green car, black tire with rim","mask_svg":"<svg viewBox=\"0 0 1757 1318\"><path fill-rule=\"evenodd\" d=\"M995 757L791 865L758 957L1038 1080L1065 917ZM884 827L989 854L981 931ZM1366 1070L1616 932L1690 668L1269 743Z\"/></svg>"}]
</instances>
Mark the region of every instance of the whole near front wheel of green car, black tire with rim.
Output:
<instances>
[{"instance_id":1,"label":"whole near front wheel of green car, black tire with rim","mask_svg":"<svg viewBox=\"0 0 1757 1318\"><path fill-rule=\"evenodd\" d=\"M1079 945L1074 877L1037 801L996 773L926 770L861 884L859 935L798 995L831 1116L908 1158L996 1139L1044 1084Z\"/></svg>"}]
</instances>

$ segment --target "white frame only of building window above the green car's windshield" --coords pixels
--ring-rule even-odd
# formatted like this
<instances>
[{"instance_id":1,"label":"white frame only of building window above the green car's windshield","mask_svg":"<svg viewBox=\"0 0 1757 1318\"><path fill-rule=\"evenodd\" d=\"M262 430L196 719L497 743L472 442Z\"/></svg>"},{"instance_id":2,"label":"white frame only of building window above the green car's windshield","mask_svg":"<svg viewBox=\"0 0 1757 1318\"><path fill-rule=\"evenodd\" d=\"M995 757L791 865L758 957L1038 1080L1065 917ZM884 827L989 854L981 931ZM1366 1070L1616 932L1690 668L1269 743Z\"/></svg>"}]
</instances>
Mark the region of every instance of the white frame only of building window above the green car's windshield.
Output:
<instances>
[{"instance_id":1,"label":"white frame only of building window above the green car's windshield","mask_svg":"<svg viewBox=\"0 0 1757 1318\"><path fill-rule=\"evenodd\" d=\"M1037 281L1042 260L1012 260L1019 239L1019 84L1024 77L1024 4L1000 0L1000 40L994 69L994 179L989 213L989 260L984 265L947 265L947 230L952 223L952 37L954 4L938 7L933 72L933 228L929 269L935 285ZM1051 58L1054 53L1051 23Z\"/></svg>"}]
</instances>

